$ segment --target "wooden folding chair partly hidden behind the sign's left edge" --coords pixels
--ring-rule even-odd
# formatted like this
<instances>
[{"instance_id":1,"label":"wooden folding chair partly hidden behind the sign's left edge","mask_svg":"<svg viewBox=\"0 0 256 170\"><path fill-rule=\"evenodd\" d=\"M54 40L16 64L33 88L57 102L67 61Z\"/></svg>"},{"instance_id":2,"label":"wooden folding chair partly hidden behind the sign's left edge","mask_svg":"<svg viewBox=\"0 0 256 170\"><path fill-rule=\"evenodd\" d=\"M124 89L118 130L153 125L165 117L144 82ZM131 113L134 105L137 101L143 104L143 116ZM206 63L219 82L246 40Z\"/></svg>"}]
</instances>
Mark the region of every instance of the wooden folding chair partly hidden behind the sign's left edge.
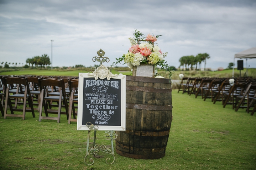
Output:
<instances>
[{"instance_id":1,"label":"wooden folding chair partly hidden behind the sign's left edge","mask_svg":"<svg viewBox=\"0 0 256 170\"><path fill-rule=\"evenodd\" d=\"M77 119L75 116L77 115L77 112L75 111L74 103L78 103L78 79L69 79L68 80L69 85L69 91L71 92L69 95L69 109L68 109L68 124L70 124L71 121L77 122ZM71 118L73 112L73 118Z\"/></svg>"}]
</instances>

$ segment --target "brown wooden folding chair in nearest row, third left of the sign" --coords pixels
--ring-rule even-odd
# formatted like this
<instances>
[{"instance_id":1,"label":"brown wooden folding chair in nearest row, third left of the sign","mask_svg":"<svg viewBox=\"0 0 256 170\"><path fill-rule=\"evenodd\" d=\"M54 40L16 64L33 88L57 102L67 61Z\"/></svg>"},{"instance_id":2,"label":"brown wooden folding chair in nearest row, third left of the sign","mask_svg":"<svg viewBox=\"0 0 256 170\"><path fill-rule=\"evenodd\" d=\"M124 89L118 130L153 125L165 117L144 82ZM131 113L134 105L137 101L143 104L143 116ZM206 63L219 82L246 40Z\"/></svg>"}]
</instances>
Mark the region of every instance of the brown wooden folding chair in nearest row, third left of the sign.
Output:
<instances>
[{"instance_id":1,"label":"brown wooden folding chair in nearest row, third left of the sign","mask_svg":"<svg viewBox=\"0 0 256 170\"><path fill-rule=\"evenodd\" d=\"M33 103L31 100L31 94L28 82L26 79L18 78L18 77L9 77L9 78L3 78L6 91L5 91L5 109L4 109L4 119L6 117L22 117L23 120L25 120L25 114L26 112L32 112L33 118L35 118ZM10 86L11 84L17 84L16 93L13 95L10 95ZM8 85L8 86L7 86ZM25 91L22 91L22 85L25 87ZM17 107L13 108L11 103L11 98L14 99L22 99L23 102L19 104L23 104L23 109L19 109ZM26 102L28 101L29 108L26 107ZM16 105L16 103L15 103ZM11 114L7 114L7 106L10 107ZM20 114L14 114L14 111L17 112L23 112L22 115Z\"/></svg>"}]
</instances>

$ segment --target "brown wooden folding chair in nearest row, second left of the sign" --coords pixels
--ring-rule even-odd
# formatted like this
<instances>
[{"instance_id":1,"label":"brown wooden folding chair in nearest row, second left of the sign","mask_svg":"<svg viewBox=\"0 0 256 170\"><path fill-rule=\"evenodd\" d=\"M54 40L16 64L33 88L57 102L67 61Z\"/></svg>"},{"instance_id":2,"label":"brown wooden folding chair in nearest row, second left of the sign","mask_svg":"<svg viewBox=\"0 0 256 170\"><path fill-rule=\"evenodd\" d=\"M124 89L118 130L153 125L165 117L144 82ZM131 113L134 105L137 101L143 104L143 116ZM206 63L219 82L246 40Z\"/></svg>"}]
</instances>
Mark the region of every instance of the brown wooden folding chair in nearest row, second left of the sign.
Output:
<instances>
[{"instance_id":1,"label":"brown wooden folding chair in nearest row, second left of the sign","mask_svg":"<svg viewBox=\"0 0 256 170\"><path fill-rule=\"evenodd\" d=\"M48 94L48 86L57 86L59 87L59 96L49 96ZM61 114L67 115L68 120L68 103L67 103L67 96L64 86L63 79L44 79L39 81L39 87L41 90L41 101L40 101L40 112L39 112L39 121L41 119L48 119L48 120L57 120L57 122L60 122ZM47 101L56 101L58 102L58 110L56 109L49 109L47 105ZM62 102L65 108L65 112L61 111L62 108ZM45 109L46 116L42 116L42 110L43 107ZM49 113L58 114L58 117L49 117Z\"/></svg>"}]
</instances>

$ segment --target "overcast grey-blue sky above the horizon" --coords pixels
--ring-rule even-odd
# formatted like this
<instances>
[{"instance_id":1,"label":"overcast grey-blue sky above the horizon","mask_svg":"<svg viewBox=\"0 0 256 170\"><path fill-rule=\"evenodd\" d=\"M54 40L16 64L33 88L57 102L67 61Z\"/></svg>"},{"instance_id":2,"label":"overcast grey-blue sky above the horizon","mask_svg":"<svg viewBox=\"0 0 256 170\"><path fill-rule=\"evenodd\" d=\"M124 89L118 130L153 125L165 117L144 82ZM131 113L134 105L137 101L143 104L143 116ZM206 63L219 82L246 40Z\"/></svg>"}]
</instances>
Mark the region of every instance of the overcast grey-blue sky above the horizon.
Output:
<instances>
[{"instance_id":1,"label":"overcast grey-blue sky above the horizon","mask_svg":"<svg viewBox=\"0 0 256 170\"><path fill-rule=\"evenodd\" d=\"M54 40L53 66L94 66L99 49L110 66L127 52L135 29L163 35L157 43L171 66L206 52L207 68L226 68L235 53L256 47L256 1L0 0L0 63L51 58ZM256 60L248 65L256 68Z\"/></svg>"}]
</instances>

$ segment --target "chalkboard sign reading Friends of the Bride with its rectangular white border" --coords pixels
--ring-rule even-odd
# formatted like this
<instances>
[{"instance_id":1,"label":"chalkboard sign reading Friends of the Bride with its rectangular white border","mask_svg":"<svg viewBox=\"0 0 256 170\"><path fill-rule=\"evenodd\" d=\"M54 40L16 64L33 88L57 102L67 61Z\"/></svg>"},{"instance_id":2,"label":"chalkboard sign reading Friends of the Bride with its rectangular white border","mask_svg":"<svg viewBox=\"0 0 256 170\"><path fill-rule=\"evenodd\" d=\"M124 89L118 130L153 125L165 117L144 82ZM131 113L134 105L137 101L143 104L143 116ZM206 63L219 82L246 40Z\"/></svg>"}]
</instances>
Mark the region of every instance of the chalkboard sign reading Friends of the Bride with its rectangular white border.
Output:
<instances>
[{"instance_id":1,"label":"chalkboard sign reading Friends of the Bride with its rectangular white border","mask_svg":"<svg viewBox=\"0 0 256 170\"><path fill-rule=\"evenodd\" d=\"M89 130L88 122L98 130L125 130L125 75L79 73L77 130Z\"/></svg>"}]
</instances>

